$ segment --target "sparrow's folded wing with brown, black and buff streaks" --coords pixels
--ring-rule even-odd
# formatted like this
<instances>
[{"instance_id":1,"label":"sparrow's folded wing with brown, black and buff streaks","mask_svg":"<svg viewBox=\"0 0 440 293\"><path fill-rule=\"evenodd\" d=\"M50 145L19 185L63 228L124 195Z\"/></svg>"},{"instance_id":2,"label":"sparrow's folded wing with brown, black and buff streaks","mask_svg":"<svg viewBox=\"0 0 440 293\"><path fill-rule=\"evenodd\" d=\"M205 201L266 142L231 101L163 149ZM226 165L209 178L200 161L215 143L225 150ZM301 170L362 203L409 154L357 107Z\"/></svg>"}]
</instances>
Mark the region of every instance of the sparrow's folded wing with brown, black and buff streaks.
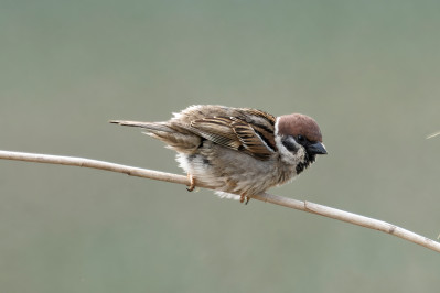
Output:
<instances>
[{"instance_id":1,"label":"sparrow's folded wing with brown, black and buff streaks","mask_svg":"<svg viewBox=\"0 0 440 293\"><path fill-rule=\"evenodd\" d=\"M190 130L221 145L267 160L275 152L273 131L253 126L237 117L210 117L192 121Z\"/></svg>"}]
</instances>

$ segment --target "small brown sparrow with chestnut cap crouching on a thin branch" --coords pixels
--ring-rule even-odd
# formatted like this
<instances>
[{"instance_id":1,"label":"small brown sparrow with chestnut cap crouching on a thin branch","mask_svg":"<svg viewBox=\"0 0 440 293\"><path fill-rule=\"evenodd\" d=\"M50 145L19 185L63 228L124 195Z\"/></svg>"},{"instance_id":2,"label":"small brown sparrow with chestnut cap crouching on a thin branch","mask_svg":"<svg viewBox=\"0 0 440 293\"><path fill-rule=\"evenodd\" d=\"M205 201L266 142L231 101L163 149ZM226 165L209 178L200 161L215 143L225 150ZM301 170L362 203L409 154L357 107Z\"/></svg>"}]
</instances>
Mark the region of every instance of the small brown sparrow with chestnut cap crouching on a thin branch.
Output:
<instances>
[{"instance_id":1,"label":"small brown sparrow with chestnut cap crouching on a thin branch","mask_svg":"<svg viewBox=\"0 0 440 293\"><path fill-rule=\"evenodd\" d=\"M316 121L302 113L275 117L253 108L193 105L163 122L109 122L141 128L176 151L191 182L187 191L200 184L246 204L328 153Z\"/></svg>"}]
</instances>

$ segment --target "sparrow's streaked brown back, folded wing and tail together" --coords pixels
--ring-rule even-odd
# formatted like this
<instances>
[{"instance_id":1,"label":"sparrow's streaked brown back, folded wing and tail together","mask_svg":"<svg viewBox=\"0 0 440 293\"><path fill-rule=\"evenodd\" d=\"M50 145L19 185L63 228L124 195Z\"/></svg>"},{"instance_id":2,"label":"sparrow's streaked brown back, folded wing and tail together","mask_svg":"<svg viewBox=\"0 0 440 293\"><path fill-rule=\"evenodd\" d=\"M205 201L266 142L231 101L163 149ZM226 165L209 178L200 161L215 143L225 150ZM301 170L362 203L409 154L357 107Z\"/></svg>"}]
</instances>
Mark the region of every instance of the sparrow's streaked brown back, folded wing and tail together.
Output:
<instances>
[{"instance_id":1,"label":"sparrow's streaked brown back, folded wing and tail together","mask_svg":"<svg viewBox=\"0 0 440 293\"><path fill-rule=\"evenodd\" d=\"M110 122L140 127L147 134L183 153L194 152L203 140L245 152L262 161L277 151L273 137L276 118L255 109L193 106L175 113L167 122Z\"/></svg>"}]
</instances>

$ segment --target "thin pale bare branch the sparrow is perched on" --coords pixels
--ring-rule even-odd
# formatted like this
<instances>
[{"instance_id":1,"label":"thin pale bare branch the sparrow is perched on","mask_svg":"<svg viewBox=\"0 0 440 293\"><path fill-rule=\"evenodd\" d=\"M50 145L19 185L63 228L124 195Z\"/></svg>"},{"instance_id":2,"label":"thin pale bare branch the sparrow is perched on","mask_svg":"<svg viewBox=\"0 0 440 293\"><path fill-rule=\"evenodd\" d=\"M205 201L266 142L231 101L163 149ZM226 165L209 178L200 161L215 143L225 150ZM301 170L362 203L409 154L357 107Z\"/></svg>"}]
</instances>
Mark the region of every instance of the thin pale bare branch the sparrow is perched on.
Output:
<instances>
[{"instance_id":1,"label":"thin pale bare branch the sparrow is perched on","mask_svg":"<svg viewBox=\"0 0 440 293\"><path fill-rule=\"evenodd\" d=\"M111 172L125 173L130 176L144 177L150 180L165 181L171 183L178 183L183 185L190 185L190 180L186 176L170 174L164 172L158 172L147 169L120 165L115 163L108 163L104 161L89 160L83 158L74 158L74 156L62 156L62 155L49 155L49 154L36 154L36 153L23 153L23 152L10 152L10 151L0 151L0 159L6 160L15 160L15 161L26 161L26 162L36 162L36 163L46 163L46 164L61 164L61 165L72 165L72 166L84 166L84 167L93 167L100 169ZM198 187L205 187L196 183ZM316 215L321 215L324 217L346 221L350 224L354 224L357 226L366 227L369 229L379 230L386 234L390 234L393 236L399 237L401 239L415 242L417 245L423 246L437 252L440 252L440 242L437 242L427 237L420 236L418 234L411 232L407 229L400 228L396 225L377 220L368 217L364 217L361 215L356 215L353 213L344 211L341 209L313 204L310 202L297 200L292 198L287 198L278 195L272 195L268 193L253 195L251 198L271 203L279 206L290 207L294 209L299 209L302 211L308 211Z\"/></svg>"}]
</instances>

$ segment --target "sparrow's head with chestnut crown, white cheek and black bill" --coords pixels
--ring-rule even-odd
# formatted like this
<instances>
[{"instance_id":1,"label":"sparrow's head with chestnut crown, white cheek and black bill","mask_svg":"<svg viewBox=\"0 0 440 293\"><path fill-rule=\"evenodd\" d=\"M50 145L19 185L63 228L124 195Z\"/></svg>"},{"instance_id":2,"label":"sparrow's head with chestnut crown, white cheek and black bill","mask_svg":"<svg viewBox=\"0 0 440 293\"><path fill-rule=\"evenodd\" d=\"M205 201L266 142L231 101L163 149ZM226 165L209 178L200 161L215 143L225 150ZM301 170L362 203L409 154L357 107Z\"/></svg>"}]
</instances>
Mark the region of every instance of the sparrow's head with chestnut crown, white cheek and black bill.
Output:
<instances>
[{"instance_id":1,"label":"sparrow's head with chestnut crown, white cheek and black bill","mask_svg":"<svg viewBox=\"0 0 440 293\"><path fill-rule=\"evenodd\" d=\"M316 121L301 113L277 119L276 143L280 159L287 164L296 164L297 174L313 163L316 154L326 154Z\"/></svg>"}]
</instances>

